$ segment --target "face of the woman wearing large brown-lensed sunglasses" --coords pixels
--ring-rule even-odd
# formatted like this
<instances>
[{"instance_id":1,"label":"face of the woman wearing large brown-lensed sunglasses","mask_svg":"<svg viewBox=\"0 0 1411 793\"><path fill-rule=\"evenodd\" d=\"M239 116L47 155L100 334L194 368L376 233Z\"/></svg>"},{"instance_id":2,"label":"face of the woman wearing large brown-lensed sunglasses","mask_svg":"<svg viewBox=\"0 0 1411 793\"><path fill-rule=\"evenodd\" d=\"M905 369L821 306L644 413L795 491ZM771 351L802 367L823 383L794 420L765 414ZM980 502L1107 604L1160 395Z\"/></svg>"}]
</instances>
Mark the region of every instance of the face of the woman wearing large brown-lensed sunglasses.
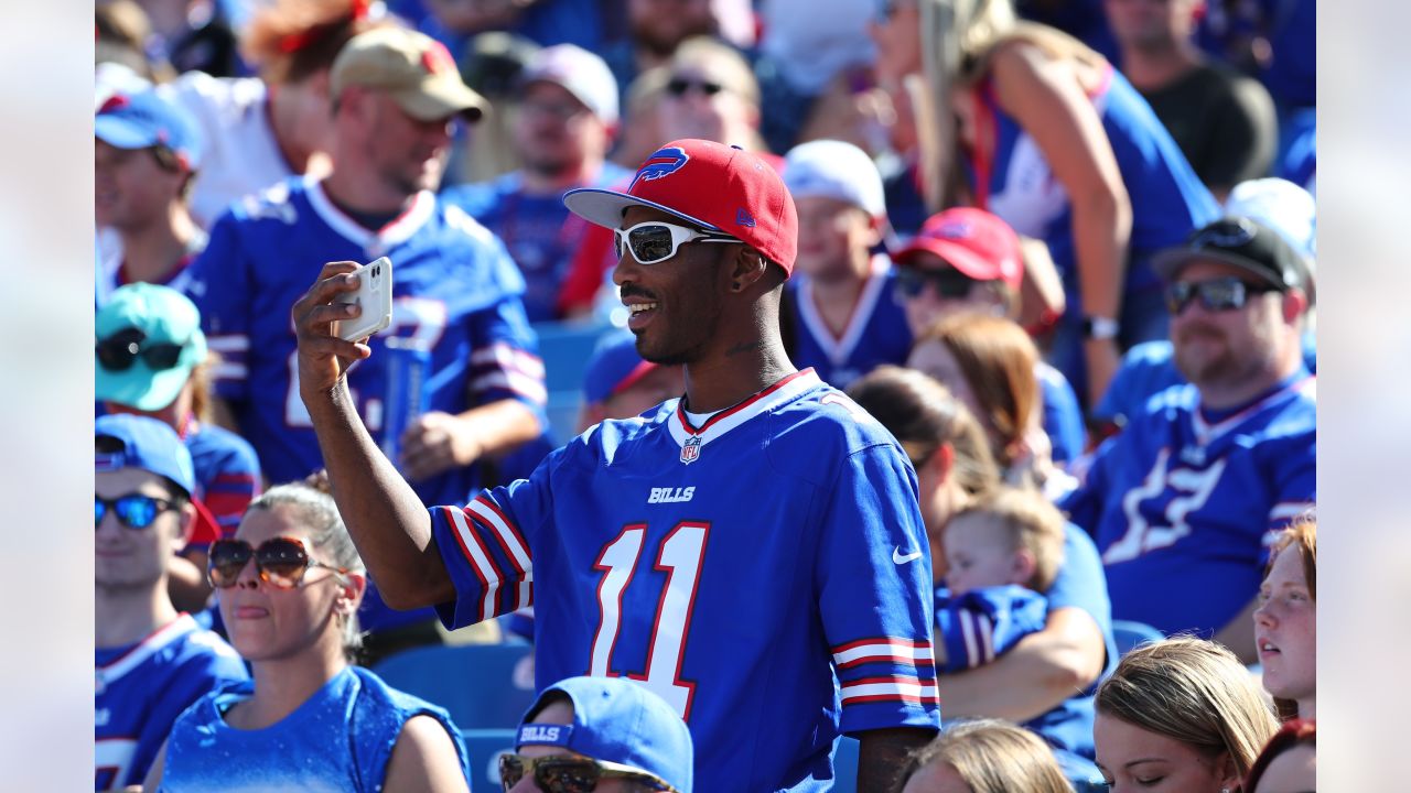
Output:
<instances>
[{"instance_id":1,"label":"face of the woman wearing large brown-lensed sunglasses","mask_svg":"<svg viewBox=\"0 0 1411 793\"><path fill-rule=\"evenodd\" d=\"M236 532L237 539L254 547L277 536L299 539L313 560L332 563L313 546L295 507L251 509ZM337 612L350 610L347 590L336 573L322 567L306 570L296 588L282 590L261 581L251 560L236 586L220 590L220 615L230 643L250 662L282 660L310 650L340 655L343 638ZM353 603L351 608L356 605Z\"/></svg>"}]
</instances>

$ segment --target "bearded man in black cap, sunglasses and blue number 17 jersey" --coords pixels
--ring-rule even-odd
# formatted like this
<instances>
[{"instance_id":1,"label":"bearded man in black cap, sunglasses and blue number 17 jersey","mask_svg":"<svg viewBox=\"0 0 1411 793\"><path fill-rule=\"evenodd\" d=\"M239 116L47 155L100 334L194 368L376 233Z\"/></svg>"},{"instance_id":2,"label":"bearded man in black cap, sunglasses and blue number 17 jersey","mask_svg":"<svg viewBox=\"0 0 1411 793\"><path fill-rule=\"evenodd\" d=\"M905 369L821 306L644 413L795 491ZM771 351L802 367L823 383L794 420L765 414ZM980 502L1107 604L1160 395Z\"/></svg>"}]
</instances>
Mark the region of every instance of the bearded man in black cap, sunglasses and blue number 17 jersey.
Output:
<instances>
[{"instance_id":1,"label":"bearded man in black cap, sunglasses and blue number 17 jersey","mask_svg":"<svg viewBox=\"0 0 1411 793\"><path fill-rule=\"evenodd\" d=\"M1188 384L1151 396L1062 504L1102 552L1112 617L1213 635L1254 659L1273 532L1315 500L1316 398L1298 254L1246 217L1153 262Z\"/></svg>"}]
</instances>

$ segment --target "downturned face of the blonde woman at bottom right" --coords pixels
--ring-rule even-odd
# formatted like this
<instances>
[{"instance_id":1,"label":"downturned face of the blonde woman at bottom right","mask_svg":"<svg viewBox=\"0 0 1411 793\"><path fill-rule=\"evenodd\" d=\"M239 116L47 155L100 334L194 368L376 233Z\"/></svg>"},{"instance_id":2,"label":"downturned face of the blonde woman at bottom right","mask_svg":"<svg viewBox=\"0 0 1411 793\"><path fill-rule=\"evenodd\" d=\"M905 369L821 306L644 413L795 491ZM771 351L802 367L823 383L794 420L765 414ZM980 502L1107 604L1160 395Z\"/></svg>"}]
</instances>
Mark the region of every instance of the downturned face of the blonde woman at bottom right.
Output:
<instances>
[{"instance_id":1,"label":"downturned face of the blonde woman at bottom right","mask_svg":"<svg viewBox=\"0 0 1411 793\"><path fill-rule=\"evenodd\" d=\"M1195 748L1098 711L1092 725L1098 768L1110 793L1221 793L1237 782L1225 756Z\"/></svg>"}]
</instances>

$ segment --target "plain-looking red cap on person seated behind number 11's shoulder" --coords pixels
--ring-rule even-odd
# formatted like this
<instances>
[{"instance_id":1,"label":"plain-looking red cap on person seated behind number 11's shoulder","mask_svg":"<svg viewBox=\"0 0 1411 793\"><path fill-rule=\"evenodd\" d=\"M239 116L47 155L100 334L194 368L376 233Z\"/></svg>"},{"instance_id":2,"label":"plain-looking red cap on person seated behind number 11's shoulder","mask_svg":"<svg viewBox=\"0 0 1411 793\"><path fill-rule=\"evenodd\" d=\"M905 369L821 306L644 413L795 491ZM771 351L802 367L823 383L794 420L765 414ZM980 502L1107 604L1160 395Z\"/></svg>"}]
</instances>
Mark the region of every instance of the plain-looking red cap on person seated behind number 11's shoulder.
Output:
<instances>
[{"instance_id":1,"label":"plain-looking red cap on person seated behind number 11's shoulder","mask_svg":"<svg viewBox=\"0 0 1411 793\"><path fill-rule=\"evenodd\" d=\"M892 261L912 267L921 251L944 258L975 281L1003 281L1019 289L1024 277L1019 234L983 209L957 206L927 217L921 231L892 254Z\"/></svg>"}]
</instances>

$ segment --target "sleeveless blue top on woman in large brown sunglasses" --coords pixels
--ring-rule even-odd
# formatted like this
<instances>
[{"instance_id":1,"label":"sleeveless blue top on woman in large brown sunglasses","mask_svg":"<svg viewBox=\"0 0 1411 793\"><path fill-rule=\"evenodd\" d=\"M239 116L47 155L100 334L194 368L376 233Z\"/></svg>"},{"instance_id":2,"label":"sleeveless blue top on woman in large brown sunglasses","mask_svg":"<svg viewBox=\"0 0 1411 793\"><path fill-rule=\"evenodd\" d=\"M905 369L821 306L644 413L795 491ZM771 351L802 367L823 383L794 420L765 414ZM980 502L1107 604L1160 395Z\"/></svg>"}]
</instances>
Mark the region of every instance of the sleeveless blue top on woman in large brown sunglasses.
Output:
<instances>
[{"instance_id":1,"label":"sleeveless blue top on woman in large brown sunglasses","mask_svg":"<svg viewBox=\"0 0 1411 793\"><path fill-rule=\"evenodd\" d=\"M159 790L255 793L382 790L387 763L406 720L430 715L456 745L460 772L470 763L450 715L398 691L377 674L349 666L293 713L262 730L237 730L224 714L254 696L254 682L213 691L186 708L166 744Z\"/></svg>"}]
</instances>

